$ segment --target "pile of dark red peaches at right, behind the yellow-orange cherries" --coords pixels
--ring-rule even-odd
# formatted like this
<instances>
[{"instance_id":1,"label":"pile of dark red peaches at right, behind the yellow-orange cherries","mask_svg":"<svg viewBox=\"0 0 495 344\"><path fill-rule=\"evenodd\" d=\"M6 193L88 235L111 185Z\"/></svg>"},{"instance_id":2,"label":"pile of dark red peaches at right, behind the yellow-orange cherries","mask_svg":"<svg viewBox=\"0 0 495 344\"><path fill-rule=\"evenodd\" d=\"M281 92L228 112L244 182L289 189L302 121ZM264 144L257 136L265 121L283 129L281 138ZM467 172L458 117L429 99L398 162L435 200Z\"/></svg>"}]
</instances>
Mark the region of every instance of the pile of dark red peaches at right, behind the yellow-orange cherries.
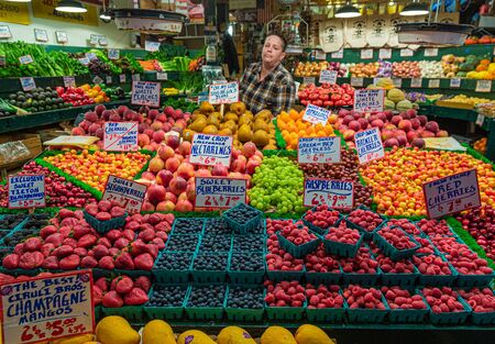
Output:
<instances>
[{"instance_id":1,"label":"pile of dark red peaches at right, behind the yellow-orange cherries","mask_svg":"<svg viewBox=\"0 0 495 344\"><path fill-rule=\"evenodd\" d=\"M363 113L354 110L341 109L329 118L338 129L348 145L354 147L355 133L367 129L378 127L385 147L414 146L424 147L426 137L448 137L449 133L440 130L435 121L428 121L426 115L418 115L416 110L409 109L399 114L391 110L377 113Z\"/></svg>"}]
</instances>

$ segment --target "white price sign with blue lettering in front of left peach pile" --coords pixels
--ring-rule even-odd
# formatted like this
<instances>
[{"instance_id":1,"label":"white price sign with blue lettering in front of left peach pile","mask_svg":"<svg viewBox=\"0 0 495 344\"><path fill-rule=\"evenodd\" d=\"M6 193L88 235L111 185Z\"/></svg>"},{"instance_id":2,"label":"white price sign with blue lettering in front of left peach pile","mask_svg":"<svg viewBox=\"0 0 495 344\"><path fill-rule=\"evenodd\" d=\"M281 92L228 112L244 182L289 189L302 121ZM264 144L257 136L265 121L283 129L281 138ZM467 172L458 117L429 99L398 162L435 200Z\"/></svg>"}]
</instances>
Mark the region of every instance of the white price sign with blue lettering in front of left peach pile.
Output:
<instances>
[{"instance_id":1,"label":"white price sign with blue lettering in front of left peach pile","mask_svg":"<svg viewBox=\"0 0 495 344\"><path fill-rule=\"evenodd\" d=\"M105 122L103 149L113 152L138 151L138 122Z\"/></svg>"}]
</instances>

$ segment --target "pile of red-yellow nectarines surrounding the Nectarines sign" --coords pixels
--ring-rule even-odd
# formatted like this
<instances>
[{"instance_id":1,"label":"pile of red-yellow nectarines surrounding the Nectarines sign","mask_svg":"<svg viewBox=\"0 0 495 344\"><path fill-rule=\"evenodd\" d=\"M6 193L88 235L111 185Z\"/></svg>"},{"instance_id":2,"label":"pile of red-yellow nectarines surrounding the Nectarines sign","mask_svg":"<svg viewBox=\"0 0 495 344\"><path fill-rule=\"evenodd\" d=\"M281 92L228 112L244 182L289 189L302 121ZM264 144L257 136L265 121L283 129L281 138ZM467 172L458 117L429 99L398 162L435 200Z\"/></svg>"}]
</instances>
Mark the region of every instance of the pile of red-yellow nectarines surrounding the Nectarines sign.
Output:
<instances>
[{"instance_id":1,"label":"pile of red-yellow nectarines surrounding the Nectarines sign","mask_svg":"<svg viewBox=\"0 0 495 344\"><path fill-rule=\"evenodd\" d=\"M244 144L242 151L233 148L229 167L217 164L212 167L197 166L189 162L191 143L180 142L170 135L162 144L155 157L150 160L147 171L141 182L148 185L143 211L180 211L195 209L195 177L244 178L248 186L251 176L261 165L263 153L252 142Z\"/></svg>"}]
</instances>

